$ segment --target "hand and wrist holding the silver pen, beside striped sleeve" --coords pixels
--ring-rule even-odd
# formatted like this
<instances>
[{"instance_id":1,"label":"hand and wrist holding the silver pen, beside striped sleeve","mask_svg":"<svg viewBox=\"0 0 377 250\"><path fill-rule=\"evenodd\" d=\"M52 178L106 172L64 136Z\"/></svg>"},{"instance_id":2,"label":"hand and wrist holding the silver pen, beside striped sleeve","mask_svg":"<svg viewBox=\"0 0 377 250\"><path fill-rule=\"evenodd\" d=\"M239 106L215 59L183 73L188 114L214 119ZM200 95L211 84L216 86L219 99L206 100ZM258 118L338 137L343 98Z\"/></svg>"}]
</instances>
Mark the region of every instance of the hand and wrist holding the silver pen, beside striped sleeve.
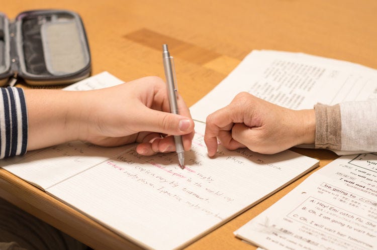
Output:
<instances>
[{"instance_id":1,"label":"hand and wrist holding the silver pen, beside striped sleeve","mask_svg":"<svg viewBox=\"0 0 377 250\"><path fill-rule=\"evenodd\" d=\"M28 150L73 140L101 146L138 142L139 154L152 155L175 151L165 135L183 135L185 150L194 137L189 108L178 95L180 115L171 114L166 84L158 77L90 91L26 90L25 98Z\"/></svg>"}]
</instances>

